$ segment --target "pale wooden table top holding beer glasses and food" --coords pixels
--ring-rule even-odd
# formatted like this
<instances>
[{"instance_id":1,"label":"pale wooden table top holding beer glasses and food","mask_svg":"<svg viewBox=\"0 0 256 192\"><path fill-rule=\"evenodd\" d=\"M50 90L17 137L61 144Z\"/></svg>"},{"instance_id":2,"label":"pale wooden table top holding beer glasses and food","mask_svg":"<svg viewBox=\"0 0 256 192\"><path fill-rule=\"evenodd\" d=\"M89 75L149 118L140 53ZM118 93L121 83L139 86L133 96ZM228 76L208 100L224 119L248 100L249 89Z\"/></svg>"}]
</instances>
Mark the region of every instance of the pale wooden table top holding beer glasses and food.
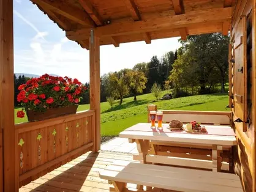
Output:
<instances>
[{"instance_id":1,"label":"pale wooden table top holding beer glasses and food","mask_svg":"<svg viewBox=\"0 0 256 192\"><path fill-rule=\"evenodd\" d=\"M119 133L120 138L146 139L152 141L184 142L193 144L213 144L220 146L235 146L237 144L235 135L203 135L192 133L173 133L164 124L163 130L151 129L151 124L136 124ZM206 130L211 128L233 129L227 125L205 125Z\"/></svg>"}]
</instances>

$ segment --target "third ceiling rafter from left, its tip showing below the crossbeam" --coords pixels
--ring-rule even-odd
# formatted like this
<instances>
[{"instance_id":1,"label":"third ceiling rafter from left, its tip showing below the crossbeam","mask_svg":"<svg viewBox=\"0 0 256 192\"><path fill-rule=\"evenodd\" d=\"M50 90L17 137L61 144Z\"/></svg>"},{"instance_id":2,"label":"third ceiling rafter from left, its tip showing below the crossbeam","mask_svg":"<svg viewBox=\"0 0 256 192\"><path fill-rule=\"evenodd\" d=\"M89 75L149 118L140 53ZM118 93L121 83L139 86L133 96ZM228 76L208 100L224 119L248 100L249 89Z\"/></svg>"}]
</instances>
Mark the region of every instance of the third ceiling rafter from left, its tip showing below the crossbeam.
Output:
<instances>
[{"instance_id":1,"label":"third ceiling rafter from left, its tip showing below the crossbeam","mask_svg":"<svg viewBox=\"0 0 256 192\"><path fill-rule=\"evenodd\" d=\"M138 11L137 6L136 6L134 0L123 0L123 1L126 4L127 9L129 9L130 15L132 15L132 19L134 21L141 20L140 12ZM150 37L149 33L145 32L142 35L143 35L143 37L145 39L146 44L150 44L151 43L151 37Z\"/></svg>"}]
</instances>

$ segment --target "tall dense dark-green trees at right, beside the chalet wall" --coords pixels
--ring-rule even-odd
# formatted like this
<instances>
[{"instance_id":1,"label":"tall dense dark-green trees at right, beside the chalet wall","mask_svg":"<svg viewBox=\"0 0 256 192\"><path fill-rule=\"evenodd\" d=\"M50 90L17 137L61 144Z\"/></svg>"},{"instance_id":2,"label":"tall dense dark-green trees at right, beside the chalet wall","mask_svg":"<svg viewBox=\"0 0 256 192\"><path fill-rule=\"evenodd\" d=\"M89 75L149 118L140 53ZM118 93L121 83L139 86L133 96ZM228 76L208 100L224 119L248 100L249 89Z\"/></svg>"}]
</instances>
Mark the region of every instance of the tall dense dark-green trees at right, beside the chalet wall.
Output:
<instances>
[{"instance_id":1,"label":"tall dense dark-green trees at right, beside the chalet wall","mask_svg":"<svg viewBox=\"0 0 256 192\"><path fill-rule=\"evenodd\" d=\"M228 81L229 37L220 33L189 36L181 41L178 59L168 80L175 94L209 94L214 87L225 92Z\"/></svg>"}]
</instances>

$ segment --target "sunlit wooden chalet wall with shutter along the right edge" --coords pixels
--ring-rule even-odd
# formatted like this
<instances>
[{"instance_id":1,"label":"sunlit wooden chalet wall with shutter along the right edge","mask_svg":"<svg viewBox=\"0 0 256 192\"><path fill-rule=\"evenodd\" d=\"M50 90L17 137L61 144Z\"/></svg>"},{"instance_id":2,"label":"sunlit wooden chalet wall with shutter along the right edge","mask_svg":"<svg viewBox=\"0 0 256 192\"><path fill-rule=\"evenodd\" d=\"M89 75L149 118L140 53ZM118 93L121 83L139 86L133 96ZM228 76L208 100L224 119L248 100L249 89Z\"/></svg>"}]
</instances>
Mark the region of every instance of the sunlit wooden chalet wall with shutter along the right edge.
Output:
<instances>
[{"instance_id":1,"label":"sunlit wooden chalet wall with shutter along the right edge","mask_svg":"<svg viewBox=\"0 0 256 192\"><path fill-rule=\"evenodd\" d=\"M230 39L230 107L237 135L234 170L245 191L254 188L253 15L252 0L238 0L233 7ZM242 122L236 122L239 119Z\"/></svg>"}]
</instances>

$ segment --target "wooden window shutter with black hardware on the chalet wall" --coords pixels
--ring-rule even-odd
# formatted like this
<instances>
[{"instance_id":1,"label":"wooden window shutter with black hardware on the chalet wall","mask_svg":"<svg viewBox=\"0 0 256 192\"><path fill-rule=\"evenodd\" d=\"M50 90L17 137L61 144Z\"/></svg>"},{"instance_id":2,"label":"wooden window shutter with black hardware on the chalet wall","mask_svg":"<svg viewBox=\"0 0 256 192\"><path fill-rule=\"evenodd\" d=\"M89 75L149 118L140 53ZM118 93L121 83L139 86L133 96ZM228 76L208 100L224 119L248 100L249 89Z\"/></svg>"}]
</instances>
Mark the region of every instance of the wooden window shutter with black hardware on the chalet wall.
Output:
<instances>
[{"instance_id":1,"label":"wooden window shutter with black hardware on the chalet wall","mask_svg":"<svg viewBox=\"0 0 256 192\"><path fill-rule=\"evenodd\" d=\"M247 51L246 16L242 16L234 31L234 112L243 122L247 121ZM246 124L243 123L246 129ZM245 130L244 130L245 131Z\"/></svg>"}]
</instances>

